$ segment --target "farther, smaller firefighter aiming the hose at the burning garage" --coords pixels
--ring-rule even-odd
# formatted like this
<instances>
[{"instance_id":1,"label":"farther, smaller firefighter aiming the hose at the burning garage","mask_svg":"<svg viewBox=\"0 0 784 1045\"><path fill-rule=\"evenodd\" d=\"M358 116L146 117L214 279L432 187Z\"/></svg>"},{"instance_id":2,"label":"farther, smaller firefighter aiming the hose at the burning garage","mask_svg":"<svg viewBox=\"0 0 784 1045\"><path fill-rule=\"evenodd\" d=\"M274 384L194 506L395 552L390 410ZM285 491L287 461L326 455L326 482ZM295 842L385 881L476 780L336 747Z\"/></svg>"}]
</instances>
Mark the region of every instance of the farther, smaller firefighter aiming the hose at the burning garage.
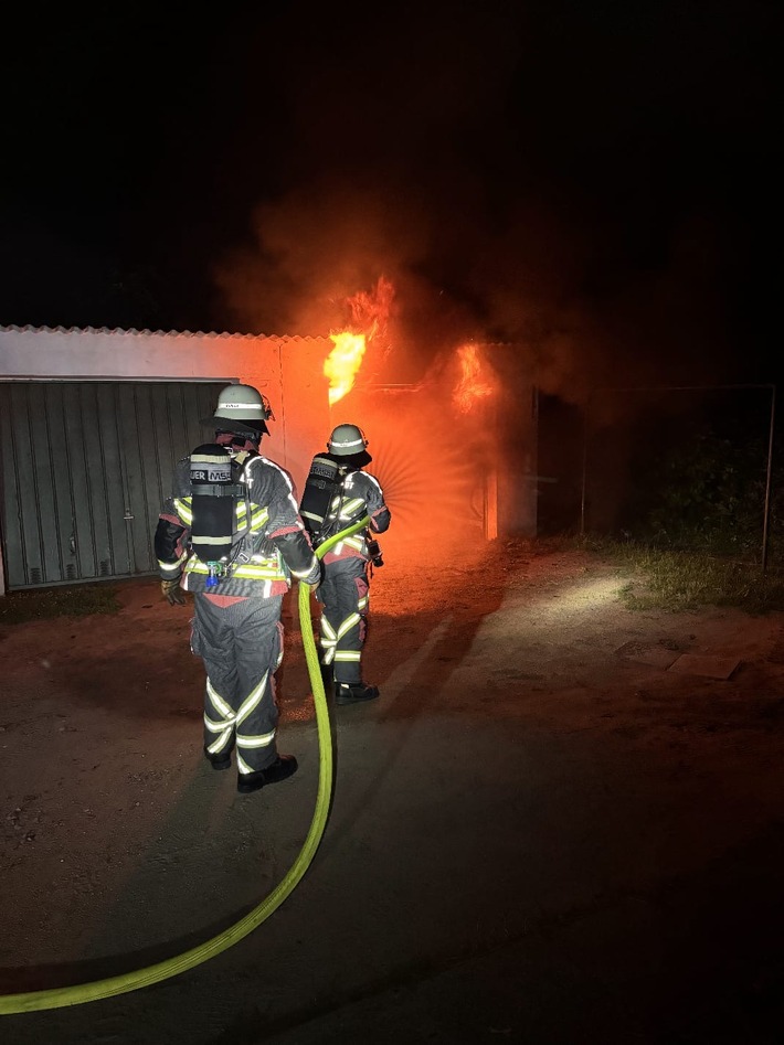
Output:
<instances>
[{"instance_id":1,"label":"farther, smaller firefighter aiming the hose at the burning garage","mask_svg":"<svg viewBox=\"0 0 784 1045\"><path fill-rule=\"evenodd\" d=\"M367 448L368 440L357 425L338 425L329 437L327 454L314 458L311 466L311 474L327 474L330 465L335 472L324 519L320 511L306 514L300 505L316 547L364 515L370 518L370 532L354 533L326 553L324 576L316 591L321 605L321 669L325 685L335 685L337 704L362 703L379 695L378 686L362 680L361 660L368 629L371 563L382 565L373 534L389 529L391 514L379 480L363 471L372 461Z\"/></svg>"}]
</instances>

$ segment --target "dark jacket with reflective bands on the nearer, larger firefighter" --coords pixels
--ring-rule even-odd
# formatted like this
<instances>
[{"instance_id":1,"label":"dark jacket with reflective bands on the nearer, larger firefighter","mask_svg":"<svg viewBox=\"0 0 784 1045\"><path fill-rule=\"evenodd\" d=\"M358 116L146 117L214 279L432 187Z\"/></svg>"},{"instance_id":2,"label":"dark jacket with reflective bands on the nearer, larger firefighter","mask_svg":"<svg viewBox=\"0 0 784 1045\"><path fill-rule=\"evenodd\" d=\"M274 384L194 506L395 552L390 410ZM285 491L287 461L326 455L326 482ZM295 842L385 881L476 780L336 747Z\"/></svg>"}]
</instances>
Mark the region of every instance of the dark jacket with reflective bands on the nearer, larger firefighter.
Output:
<instances>
[{"instance_id":1,"label":"dark jacket with reflective bands on the nearer, larger firefighter","mask_svg":"<svg viewBox=\"0 0 784 1045\"><path fill-rule=\"evenodd\" d=\"M178 461L173 493L158 520L155 550L163 579L182 577L188 591L269 598L285 594L292 576L318 584L320 566L297 508L289 473L258 454L237 455L232 462L246 497L236 498L234 543L230 563L215 587L208 585L209 567L190 547L193 521L190 458Z\"/></svg>"}]
</instances>

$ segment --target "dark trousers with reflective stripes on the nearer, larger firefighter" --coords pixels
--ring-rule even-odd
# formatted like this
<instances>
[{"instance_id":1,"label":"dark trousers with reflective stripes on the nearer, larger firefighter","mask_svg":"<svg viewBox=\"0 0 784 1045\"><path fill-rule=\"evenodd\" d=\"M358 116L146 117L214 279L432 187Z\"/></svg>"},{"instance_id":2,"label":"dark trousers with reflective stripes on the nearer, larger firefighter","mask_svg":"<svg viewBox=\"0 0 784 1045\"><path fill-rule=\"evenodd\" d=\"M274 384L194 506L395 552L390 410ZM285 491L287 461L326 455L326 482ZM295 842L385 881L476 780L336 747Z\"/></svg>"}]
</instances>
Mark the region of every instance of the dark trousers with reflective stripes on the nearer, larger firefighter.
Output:
<instances>
[{"instance_id":1,"label":"dark trousers with reflective stripes on the nearer, larger firefighter","mask_svg":"<svg viewBox=\"0 0 784 1045\"><path fill-rule=\"evenodd\" d=\"M214 755L236 745L240 772L277 758L275 671L283 658L283 596L215 606L194 598L191 649L206 671L204 746Z\"/></svg>"}]
</instances>

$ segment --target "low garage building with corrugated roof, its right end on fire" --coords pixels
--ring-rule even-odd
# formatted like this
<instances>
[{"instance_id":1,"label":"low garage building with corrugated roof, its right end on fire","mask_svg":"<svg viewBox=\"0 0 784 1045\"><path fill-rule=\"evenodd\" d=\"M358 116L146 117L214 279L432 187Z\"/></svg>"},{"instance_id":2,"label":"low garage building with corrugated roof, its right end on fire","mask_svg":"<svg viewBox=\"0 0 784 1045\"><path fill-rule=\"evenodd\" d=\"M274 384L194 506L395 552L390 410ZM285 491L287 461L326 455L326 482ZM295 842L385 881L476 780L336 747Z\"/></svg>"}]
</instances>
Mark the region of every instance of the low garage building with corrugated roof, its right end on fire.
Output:
<instances>
[{"instance_id":1,"label":"low garage building with corrugated roof, its right end on fire","mask_svg":"<svg viewBox=\"0 0 784 1045\"><path fill-rule=\"evenodd\" d=\"M507 395L506 346L457 345L395 383L367 365L378 333L361 312L312 338L0 328L0 591L155 574L173 466L231 382L269 399L262 450L300 491L332 427L365 431L393 513L388 559L534 535L536 390Z\"/></svg>"}]
</instances>

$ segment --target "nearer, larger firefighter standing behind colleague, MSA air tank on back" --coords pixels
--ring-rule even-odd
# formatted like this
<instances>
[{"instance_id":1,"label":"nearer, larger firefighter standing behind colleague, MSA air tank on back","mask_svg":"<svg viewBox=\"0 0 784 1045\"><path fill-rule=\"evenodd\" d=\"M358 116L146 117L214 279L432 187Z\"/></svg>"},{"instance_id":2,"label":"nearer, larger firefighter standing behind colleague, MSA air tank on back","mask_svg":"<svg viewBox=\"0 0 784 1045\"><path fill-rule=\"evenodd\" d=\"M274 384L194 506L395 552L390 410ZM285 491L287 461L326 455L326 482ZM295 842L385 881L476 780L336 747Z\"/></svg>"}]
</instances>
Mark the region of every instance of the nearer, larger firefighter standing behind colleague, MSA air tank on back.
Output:
<instances>
[{"instance_id":1,"label":"nearer, larger firefighter standing behind colleague, MSA air tank on back","mask_svg":"<svg viewBox=\"0 0 784 1045\"><path fill-rule=\"evenodd\" d=\"M203 422L215 441L178 462L155 534L163 595L172 605L184 601L183 590L194 597L191 649L206 672L204 755L229 769L235 753L241 792L297 770L276 744L282 604L292 577L318 585L321 573L290 476L259 454L272 417L256 388L225 387ZM226 534L210 526L221 513Z\"/></svg>"}]
</instances>

